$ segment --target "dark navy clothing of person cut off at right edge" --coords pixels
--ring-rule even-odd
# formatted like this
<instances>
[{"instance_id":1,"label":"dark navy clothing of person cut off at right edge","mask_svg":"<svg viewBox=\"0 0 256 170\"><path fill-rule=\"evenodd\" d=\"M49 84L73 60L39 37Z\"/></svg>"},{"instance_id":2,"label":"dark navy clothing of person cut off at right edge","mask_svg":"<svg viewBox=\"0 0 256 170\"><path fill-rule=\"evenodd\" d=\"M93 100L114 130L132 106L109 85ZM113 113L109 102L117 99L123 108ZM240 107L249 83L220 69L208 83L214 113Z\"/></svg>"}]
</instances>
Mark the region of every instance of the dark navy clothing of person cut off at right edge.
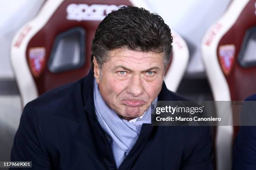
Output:
<instances>
[{"instance_id":1,"label":"dark navy clothing of person cut off at right edge","mask_svg":"<svg viewBox=\"0 0 256 170\"><path fill-rule=\"evenodd\" d=\"M246 101L256 101L256 94L246 98ZM255 114L256 106L253 106L253 109L253 114ZM241 114L248 113L242 112ZM256 126L239 128L234 142L232 170L256 170Z\"/></svg>"}]
</instances>

